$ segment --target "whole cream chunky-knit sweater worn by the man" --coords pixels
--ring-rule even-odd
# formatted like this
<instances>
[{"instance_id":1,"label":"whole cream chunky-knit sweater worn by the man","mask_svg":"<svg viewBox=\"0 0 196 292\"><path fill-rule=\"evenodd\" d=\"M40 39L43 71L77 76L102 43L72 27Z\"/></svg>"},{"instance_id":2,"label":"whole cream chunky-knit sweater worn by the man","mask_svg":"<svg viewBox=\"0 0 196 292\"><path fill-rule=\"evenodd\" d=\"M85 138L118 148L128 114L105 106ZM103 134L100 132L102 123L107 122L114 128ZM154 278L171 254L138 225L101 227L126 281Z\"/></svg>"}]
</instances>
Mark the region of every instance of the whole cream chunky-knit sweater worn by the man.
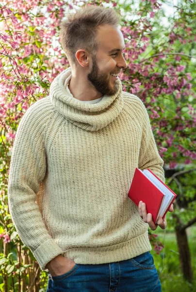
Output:
<instances>
[{"instance_id":1,"label":"whole cream chunky-knit sweater worn by the man","mask_svg":"<svg viewBox=\"0 0 196 292\"><path fill-rule=\"evenodd\" d=\"M23 115L13 146L9 209L42 270L55 256L80 264L126 260L151 250L148 224L128 193L135 168L162 181L147 110L118 90L96 104L66 91L71 69Z\"/></svg>"}]
</instances>

